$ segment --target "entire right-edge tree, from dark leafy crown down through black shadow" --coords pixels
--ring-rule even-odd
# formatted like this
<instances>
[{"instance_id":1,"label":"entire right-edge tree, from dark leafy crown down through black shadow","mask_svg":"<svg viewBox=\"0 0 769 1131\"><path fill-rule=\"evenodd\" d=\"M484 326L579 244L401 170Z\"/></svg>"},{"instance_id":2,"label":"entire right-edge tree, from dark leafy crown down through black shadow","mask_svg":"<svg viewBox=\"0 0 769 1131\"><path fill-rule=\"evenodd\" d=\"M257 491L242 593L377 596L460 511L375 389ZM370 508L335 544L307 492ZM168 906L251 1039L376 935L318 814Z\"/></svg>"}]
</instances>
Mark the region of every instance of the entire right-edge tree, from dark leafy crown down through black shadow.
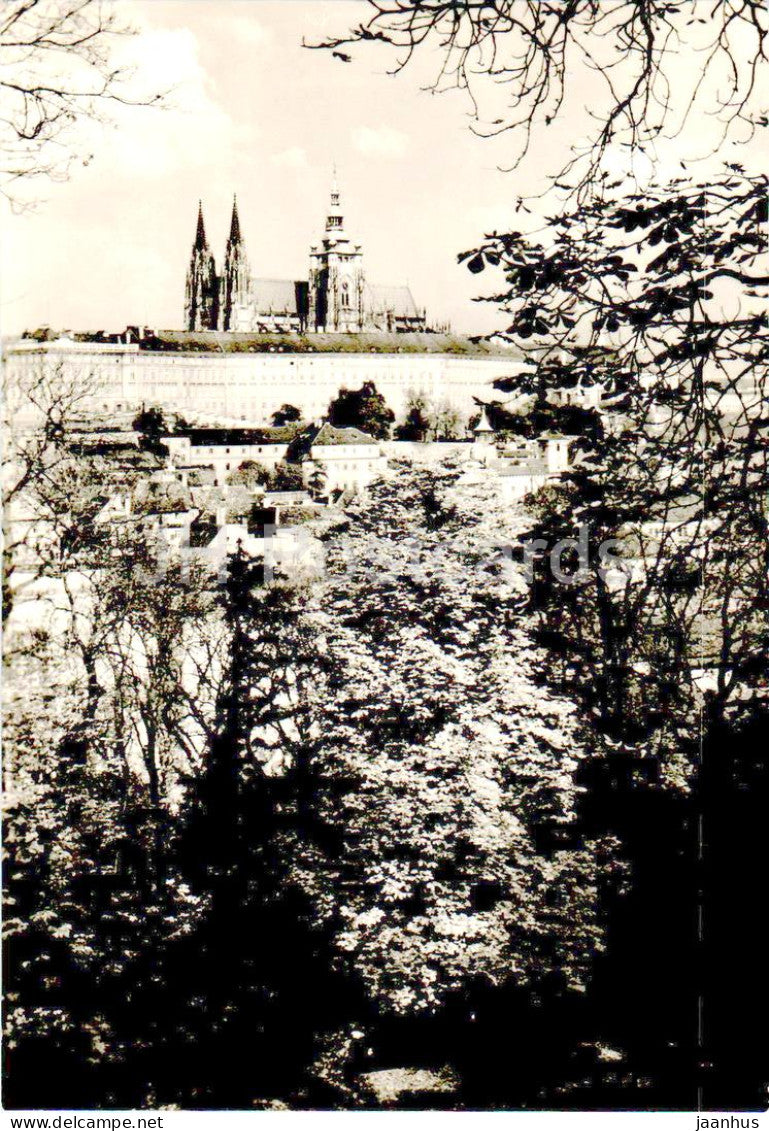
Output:
<instances>
[{"instance_id":1,"label":"entire right-edge tree, from dark leafy crown down through black shadow","mask_svg":"<svg viewBox=\"0 0 769 1131\"><path fill-rule=\"evenodd\" d=\"M542 407L602 389L570 473L534 500L530 607L543 676L615 744L587 778L584 813L622 836L637 881L613 918L598 1024L627 1039L611 999L648 969L663 923L686 970L675 987L665 970L645 977L633 1041L663 1106L750 1106L762 1085L748 1045L727 1047L725 1019L750 1031L763 999L757 988L726 1008L724 967L744 953L757 966L740 940L729 947L718 908L725 870L754 867L741 791L750 780L766 802L767 788L762 752L740 739L767 718L766 207L766 180L731 166L595 200L554 217L542 242L509 233L466 257L503 275L504 336L532 361L521 394ZM550 555L564 537L571 584ZM664 882L663 858L676 861Z\"/></svg>"}]
</instances>

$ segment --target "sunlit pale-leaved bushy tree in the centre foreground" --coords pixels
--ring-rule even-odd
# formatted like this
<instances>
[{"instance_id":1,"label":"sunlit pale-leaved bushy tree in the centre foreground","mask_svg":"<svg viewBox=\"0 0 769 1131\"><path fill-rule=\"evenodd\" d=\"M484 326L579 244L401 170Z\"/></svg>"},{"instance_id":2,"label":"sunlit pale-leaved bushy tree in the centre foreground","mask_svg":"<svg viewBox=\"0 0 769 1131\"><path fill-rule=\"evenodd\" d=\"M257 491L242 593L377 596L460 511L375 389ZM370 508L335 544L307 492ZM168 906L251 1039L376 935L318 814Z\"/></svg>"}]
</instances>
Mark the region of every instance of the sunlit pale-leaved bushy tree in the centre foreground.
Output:
<instances>
[{"instance_id":1,"label":"sunlit pale-leaved bushy tree in the centre foreground","mask_svg":"<svg viewBox=\"0 0 769 1131\"><path fill-rule=\"evenodd\" d=\"M321 829L295 869L340 959L406 1015L473 983L584 986L602 939L602 851L553 848L584 734L535 682L500 556L516 520L459 478L374 485L327 535L317 598Z\"/></svg>"}]
</instances>

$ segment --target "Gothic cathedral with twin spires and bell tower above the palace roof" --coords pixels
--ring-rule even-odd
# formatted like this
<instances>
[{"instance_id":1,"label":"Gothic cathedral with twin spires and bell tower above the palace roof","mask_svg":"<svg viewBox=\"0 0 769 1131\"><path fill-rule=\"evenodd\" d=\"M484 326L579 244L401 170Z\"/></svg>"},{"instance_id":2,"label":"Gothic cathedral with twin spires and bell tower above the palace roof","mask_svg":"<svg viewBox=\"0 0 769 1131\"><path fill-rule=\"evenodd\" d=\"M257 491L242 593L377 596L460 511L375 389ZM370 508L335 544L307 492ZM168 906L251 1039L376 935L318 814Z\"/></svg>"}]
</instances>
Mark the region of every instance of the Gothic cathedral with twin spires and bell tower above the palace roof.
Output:
<instances>
[{"instance_id":1,"label":"Gothic cathedral with twin spires and bell tower above the palace roof","mask_svg":"<svg viewBox=\"0 0 769 1131\"><path fill-rule=\"evenodd\" d=\"M187 274L184 328L262 334L403 334L426 329L426 314L417 310L407 286L368 282L361 245L353 243L345 231L335 180L322 240L310 249L306 279L269 279L251 274L236 200L218 274L200 204Z\"/></svg>"}]
</instances>

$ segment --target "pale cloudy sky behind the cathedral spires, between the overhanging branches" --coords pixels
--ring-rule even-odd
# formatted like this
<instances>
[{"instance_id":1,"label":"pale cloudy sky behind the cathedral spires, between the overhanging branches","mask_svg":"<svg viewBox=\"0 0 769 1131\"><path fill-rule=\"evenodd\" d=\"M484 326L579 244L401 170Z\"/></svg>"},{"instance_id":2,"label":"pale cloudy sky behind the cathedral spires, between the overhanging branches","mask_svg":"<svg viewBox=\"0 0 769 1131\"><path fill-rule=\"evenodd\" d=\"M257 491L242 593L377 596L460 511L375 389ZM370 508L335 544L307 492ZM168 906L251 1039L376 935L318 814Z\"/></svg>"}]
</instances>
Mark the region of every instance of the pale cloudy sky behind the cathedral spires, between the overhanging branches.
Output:
<instances>
[{"instance_id":1,"label":"pale cloudy sky behind the cathedral spires, between the overhanging branches","mask_svg":"<svg viewBox=\"0 0 769 1131\"><path fill-rule=\"evenodd\" d=\"M306 277L335 161L368 278L408 283L429 317L456 330L498 325L472 301L485 277L456 254L485 231L520 226L515 199L555 171L573 122L556 123L546 150L539 143L520 172L503 173L508 143L473 136L464 97L421 89L434 60L392 78L391 57L378 51L343 63L302 48L303 36L360 20L357 0L127 8L141 29L130 48L141 83L173 85L173 109L122 112L118 128L88 138L93 161L47 185L34 211L3 206L3 333L180 327L198 198L217 264L236 192L254 274ZM581 89L589 100L589 84Z\"/></svg>"}]
</instances>

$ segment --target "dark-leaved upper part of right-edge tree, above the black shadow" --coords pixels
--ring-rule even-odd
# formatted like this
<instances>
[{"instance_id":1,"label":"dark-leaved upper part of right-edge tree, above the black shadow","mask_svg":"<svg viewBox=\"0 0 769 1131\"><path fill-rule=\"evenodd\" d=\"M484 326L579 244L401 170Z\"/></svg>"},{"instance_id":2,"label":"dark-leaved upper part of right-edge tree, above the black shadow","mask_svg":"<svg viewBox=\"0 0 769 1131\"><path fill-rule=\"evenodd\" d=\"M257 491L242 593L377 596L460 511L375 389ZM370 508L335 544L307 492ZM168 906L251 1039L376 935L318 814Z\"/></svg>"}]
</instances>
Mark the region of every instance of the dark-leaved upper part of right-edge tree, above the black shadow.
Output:
<instances>
[{"instance_id":1,"label":"dark-leaved upper part of right-edge tree, above the black shadow","mask_svg":"<svg viewBox=\"0 0 769 1131\"><path fill-rule=\"evenodd\" d=\"M703 670L715 716L766 692L764 223L764 179L735 167L468 257L504 271L506 336L536 359L518 386L529 418L553 390L603 389L536 532L553 545L582 528L590 564L571 590L541 569L534 598L606 725L662 728L671 749ZM624 561L606 571L612 539Z\"/></svg>"}]
</instances>

